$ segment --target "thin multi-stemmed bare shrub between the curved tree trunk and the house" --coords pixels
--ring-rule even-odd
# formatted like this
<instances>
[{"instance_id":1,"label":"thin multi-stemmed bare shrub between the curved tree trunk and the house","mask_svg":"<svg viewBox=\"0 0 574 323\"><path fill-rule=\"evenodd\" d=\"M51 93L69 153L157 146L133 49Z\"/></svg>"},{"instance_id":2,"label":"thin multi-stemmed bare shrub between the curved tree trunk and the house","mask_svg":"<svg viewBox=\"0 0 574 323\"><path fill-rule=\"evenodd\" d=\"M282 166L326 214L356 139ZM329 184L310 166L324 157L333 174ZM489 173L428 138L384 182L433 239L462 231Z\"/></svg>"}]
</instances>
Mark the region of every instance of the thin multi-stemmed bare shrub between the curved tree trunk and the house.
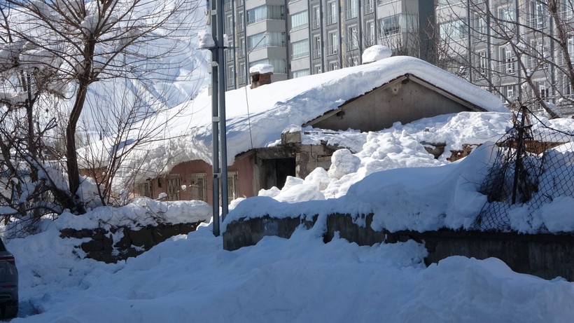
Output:
<instances>
[{"instance_id":1,"label":"thin multi-stemmed bare shrub between the curved tree trunk and the house","mask_svg":"<svg viewBox=\"0 0 574 323\"><path fill-rule=\"evenodd\" d=\"M136 83L134 80L125 82ZM158 97L145 96L146 92L132 92L130 87L117 83L107 83L106 89L106 92L116 95L98 97L90 102L96 106L110 106L110 109L89 109L94 114L90 120L102 131L94 135L90 133L93 127L83 127L87 132L83 136L87 142L80 149L79 161L84 174L95 181L99 203L120 205L125 200L123 194L130 187L148 174L155 175L159 171L157 167L164 166L155 165L153 172L144 168L142 161L148 159L145 158L146 145L159 138L165 139L162 131L176 118L182 117L183 108L161 107L162 102ZM134 154L144 157L134 158Z\"/></svg>"}]
</instances>

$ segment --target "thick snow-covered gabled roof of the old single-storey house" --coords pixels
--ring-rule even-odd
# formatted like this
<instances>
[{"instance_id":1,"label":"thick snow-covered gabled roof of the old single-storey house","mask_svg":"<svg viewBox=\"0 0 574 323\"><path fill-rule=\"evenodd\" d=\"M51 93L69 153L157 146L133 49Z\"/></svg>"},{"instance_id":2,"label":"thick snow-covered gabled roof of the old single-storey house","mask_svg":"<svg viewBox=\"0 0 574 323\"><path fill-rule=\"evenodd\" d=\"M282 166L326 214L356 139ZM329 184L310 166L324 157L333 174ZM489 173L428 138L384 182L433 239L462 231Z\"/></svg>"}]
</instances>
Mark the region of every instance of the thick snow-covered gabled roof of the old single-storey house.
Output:
<instances>
[{"instance_id":1,"label":"thick snow-covered gabled roof of the old single-storey house","mask_svg":"<svg viewBox=\"0 0 574 323\"><path fill-rule=\"evenodd\" d=\"M389 57L255 89L246 87L225 92L228 163L249 149L276 145L281 132L290 125L303 125L405 74L432 83L486 111L507 111L498 97L428 62L414 57ZM173 111L180 114L169 115L174 114ZM193 101L156 117L156 120L173 120L158 134L158 140L132 153L127 172L137 169L141 177L151 177L167 173L174 165L188 160L211 164L211 117L211 96L207 90ZM153 122L144 121L150 124L139 126L152 127Z\"/></svg>"}]
</instances>

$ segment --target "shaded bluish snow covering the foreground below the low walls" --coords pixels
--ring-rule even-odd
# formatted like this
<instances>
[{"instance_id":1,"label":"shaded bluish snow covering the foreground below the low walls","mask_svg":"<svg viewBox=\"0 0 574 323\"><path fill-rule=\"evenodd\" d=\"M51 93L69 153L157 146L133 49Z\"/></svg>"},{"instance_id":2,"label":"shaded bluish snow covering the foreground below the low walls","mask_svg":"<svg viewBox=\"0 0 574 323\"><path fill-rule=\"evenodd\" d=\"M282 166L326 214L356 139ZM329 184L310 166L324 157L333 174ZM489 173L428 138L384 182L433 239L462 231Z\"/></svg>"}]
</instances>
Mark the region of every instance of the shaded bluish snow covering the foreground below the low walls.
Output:
<instances>
[{"instance_id":1,"label":"shaded bluish snow covering the foreground below the low walls","mask_svg":"<svg viewBox=\"0 0 574 323\"><path fill-rule=\"evenodd\" d=\"M323 243L320 228L235 252L202 227L126 262L75 259L46 232L16 240L12 322L571 322L574 284L456 256L425 268L414 242Z\"/></svg>"}]
</instances>

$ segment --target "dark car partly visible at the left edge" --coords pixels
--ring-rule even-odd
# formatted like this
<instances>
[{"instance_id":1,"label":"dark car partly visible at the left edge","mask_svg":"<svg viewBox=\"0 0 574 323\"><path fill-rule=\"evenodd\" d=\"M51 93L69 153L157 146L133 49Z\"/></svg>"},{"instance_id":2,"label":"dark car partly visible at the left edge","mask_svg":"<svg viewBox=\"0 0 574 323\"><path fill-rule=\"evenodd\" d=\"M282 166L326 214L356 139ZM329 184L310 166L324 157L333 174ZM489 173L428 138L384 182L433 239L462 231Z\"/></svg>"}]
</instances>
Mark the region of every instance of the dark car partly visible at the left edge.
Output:
<instances>
[{"instance_id":1,"label":"dark car partly visible at the left edge","mask_svg":"<svg viewBox=\"0 0 574 323\"><path fill-rule=\"evenodd\" d=\"M14 255L6 250L0 239L0 315L4 318L18 314L18 269Z\"/></svg>"}]
</instances>

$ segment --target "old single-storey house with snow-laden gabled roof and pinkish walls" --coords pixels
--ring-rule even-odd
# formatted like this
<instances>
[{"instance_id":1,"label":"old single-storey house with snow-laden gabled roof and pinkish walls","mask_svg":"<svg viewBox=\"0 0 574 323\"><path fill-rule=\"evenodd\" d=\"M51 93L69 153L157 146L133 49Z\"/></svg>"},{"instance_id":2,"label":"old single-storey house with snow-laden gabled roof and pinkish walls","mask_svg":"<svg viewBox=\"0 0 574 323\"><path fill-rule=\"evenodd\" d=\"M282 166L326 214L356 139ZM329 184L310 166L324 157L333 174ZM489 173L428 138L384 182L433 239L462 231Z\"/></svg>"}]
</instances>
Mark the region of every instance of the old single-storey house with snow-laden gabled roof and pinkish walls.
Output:
<instances>
[{"instance_id":1,"label":"old single-storey house with snow-laden gabled roof and pinkish walls","mask_svg":"<svg viewBox=\"0 0 574 323\"><path fill-rule=\"evenodd\" d=\"M497 97L414 57L389 57L225 93L230 199L330 166L337 134L460 111L505 111ZM125 167L134 193L211 202L211 97L180 106L160 140ZM175 110L175 109L174 109ZM166 116L165 118L168 118ZM134 178L134 177L132 177Z\"/></svg>"}]
</instances>

